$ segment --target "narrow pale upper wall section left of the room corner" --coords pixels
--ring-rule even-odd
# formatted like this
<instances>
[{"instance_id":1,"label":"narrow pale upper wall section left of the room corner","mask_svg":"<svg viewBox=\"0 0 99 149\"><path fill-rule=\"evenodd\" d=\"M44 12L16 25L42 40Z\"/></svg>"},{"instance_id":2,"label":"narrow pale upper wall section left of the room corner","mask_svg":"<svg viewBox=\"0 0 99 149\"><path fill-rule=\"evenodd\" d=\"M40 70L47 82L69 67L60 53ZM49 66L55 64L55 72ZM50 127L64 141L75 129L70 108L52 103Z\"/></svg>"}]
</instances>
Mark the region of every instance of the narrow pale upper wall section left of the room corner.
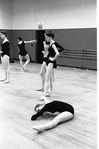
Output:
<instances>
[{"instance_id":1,"label":"narrow pale upper wall section left of the room corner","mask_svg":"<svg viewBox=\"0 0 99 149\"><path fill-rule=\"evenodd\" d=\"M13 0L0 0L0 29L13 28Z\"/></svg>"}]
</instances>

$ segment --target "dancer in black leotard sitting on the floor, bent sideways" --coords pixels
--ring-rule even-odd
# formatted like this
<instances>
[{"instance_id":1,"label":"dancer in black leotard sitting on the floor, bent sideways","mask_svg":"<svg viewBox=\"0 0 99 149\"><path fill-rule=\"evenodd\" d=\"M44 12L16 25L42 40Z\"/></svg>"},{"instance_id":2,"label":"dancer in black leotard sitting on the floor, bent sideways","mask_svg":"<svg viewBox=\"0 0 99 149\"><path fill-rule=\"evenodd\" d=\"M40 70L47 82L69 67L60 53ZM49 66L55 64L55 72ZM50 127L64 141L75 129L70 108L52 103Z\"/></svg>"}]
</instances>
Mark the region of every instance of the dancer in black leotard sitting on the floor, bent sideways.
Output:
<instances>
[{"instance_id":1,"label":"dancer in black leotard sitting on the floor, bent sideways","mask_svg":"<svg viewBox=\"0 0 99 149\"><path fill-rule=\"evenodd\" d=\"M36 120L45 113L50 113L56 117L46 124L33 126L33 129L37 132L43 132L47 129L54 128L59 123L66 122L74 117L74 108L72 105L62 101L50 102L46 97L44 97L44 102L45 104L37 104L35 106L34 110L37 113L31 117L31 120Z\"/></svg>"}]
</instances>

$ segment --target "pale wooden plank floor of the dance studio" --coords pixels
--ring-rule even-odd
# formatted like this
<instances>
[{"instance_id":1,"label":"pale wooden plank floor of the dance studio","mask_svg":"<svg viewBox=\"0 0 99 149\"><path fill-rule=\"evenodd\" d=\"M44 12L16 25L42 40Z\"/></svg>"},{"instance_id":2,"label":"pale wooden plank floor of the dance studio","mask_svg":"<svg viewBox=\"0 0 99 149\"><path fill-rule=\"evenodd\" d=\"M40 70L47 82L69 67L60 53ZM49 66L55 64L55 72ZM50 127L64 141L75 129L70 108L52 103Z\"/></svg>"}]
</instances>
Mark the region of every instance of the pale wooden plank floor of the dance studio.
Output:
<instances>
[{"instance_id":1,"label":"pale wooden plank floor of the dance studio","mask_svg":"<svg viewBox=\"0 0 99 149\"><path fill-rule=\"evenodd\" d=\"M73 120L37 133L32 125L52 118L30 118L41 101L40 64L30 63L27 72L19 62L11 64L9 84L0 82L0 149L97 149L97 71L58 67L50 100L62 100L75 108ZM4 70L0 64L0 79Z\"/></svg>"}]
</instances>

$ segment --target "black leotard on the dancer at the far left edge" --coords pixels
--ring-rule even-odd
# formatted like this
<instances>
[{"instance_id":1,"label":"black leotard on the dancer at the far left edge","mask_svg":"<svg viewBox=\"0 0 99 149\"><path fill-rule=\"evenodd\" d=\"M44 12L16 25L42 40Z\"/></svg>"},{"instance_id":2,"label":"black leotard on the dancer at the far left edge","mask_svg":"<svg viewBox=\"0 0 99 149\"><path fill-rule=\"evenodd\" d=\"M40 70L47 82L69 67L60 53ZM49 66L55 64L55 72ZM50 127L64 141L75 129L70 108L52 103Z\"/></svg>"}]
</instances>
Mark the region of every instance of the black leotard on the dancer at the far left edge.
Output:
<instances>
[{"instance_id":1,"label":"black leotard on the dancer at the far left edge","mask_svg":"<svg viewBox=\"0 0 99 149\"><path fill-rule=\"evenodd\" d=\"M7 55L7 56L10 56L9 52L10 52L10 49L9 49L9 41L6 41L4 42L2 45L1 45L2 49L1 51L3 52L1 55L2 57L4 55Z\"/></svg>"}]
</instances>

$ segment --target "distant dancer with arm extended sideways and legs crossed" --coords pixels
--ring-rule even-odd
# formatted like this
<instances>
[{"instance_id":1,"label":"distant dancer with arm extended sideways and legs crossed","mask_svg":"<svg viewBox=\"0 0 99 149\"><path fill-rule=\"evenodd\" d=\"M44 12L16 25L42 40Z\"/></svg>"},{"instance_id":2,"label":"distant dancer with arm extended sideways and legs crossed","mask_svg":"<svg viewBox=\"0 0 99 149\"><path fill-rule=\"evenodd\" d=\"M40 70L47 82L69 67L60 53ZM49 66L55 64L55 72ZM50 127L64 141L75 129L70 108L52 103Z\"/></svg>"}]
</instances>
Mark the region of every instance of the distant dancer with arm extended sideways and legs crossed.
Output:
<instances>
[{"instance_id":1,"label":"distant dancer with arm extended sideways and legs crossed","mask_svg":"<svg viewBox=\"0 0 99 149\"><path fill-rule=\"evenodd\" d=\"M20 64L21 64L21 67L22 67L22 70L25 71L25 67L27 66L27 64L30 62L30 57L25 49L25 43L36 43L37 40L30 40L30 41L22 41L22 38L21 37L18 37L18 44L17 44L17 47L18 47L18 51L19 51L19 61L20 61ZM26 62L25 64L23 65L23 58L25 57L26 59Z\"/></svg>"}]
</instances>

